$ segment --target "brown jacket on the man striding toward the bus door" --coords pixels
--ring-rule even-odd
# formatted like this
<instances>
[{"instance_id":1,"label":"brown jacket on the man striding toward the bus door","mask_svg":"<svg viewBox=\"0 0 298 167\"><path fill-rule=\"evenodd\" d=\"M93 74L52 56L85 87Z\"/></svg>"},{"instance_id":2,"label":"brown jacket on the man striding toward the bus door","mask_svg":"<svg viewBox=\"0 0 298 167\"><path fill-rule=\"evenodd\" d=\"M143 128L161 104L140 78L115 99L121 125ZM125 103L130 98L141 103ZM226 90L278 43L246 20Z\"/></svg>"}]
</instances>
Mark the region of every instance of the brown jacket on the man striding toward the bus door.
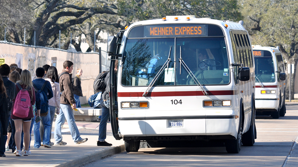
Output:
<instances>
[{"instance_id":1,"label":"brown jacket on the man striding toward the bus door","mask_svg":"<svg viewBox=\"0 0 298 167\"><path fill-rule=\"evenodd\" d=\"M63 69L61 73L63 72L67 71ZM75 104L74 93L72 90L72 74L61 75L59 78L59 83L60 92L62 93L60 96L60 104Z\"/></svg>"}]
</instances>

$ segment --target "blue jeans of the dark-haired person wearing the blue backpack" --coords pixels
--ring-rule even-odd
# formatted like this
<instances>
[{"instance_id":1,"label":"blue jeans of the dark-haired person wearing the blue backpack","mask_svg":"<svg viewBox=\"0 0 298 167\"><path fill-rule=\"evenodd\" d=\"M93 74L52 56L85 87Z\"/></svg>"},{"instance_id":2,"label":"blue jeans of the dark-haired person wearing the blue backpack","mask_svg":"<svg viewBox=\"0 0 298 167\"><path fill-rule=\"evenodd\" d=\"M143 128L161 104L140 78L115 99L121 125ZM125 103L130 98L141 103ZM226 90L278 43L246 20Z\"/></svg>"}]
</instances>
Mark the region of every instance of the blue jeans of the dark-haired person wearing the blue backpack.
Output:
<instances>
[{"instance_id":1,"label":"blue jeans of the dark-haired person wearing the blue backpack","mask_svg":"<svg viewBox=\"0 0 298 167\"><path fill-rule=\"evenodd\" d=\"M50 112L44 117L41 117L41 121L44 124L44 137L43 137L43 144L49 144L50 141L50 128L51 128L51 115ZM36 123L34 121L34 148L39 148L41 146L41 138L39 132L40 122Z\"/></svg>"}]
</instances>

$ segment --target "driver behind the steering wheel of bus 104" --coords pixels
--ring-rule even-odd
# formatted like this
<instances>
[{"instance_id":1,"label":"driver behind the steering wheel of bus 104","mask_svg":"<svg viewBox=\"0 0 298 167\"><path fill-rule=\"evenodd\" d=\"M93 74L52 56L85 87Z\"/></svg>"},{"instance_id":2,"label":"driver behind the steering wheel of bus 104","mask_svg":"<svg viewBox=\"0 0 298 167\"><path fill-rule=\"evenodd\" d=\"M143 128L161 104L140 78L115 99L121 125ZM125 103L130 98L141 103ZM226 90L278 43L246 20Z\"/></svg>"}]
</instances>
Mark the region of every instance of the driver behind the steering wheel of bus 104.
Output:
<instances>
[{"instance_id":1,"label":"driver behind the steering wheel of bus 104","mask_svg":"<svg viewBox=\"0 0 298 167\"><path fill-rule=\"evenodd\" d=\"M215 60L215 58L211 53L210 49L200 49L198 52L198 58L199 58L198 66L200 69L216 70L215 61L212 61L212 60ZM211 60L208 60L208 59L211 59Z\"/></svg>"}]
</instances>

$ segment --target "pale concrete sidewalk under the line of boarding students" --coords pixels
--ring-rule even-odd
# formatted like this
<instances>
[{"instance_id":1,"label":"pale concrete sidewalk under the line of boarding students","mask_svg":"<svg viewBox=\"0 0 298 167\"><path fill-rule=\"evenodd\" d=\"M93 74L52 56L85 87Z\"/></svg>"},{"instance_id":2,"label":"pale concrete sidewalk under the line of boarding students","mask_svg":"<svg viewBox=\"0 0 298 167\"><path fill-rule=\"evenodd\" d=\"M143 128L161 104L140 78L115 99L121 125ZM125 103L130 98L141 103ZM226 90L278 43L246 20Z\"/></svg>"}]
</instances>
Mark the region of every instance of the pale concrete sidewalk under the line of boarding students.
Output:
<instances>
[{"instance_id":1,"label":"pale concrete sidewalk under the line of boarding students","mask_svg":"<svg viewBox=\"0 0 298 167\"><path fill-rule=\"evenodd\" d=\"M55 120L54 120L55 121ZM124 141L116 140L113 136L107 136L106 141L108 143L113 144L111 147L99 147L97 146L98 140L98 125L97 122L77 122L76 124L79 128L79 131L88 130L88 129L97 129L97 135L82 135L82 138L88 138L83 144L75 144L72 140L72 136L70 134L63 134L63 141L67 143L65 146L52 146L52 148L45 148L41 146L39 149L35 149L34 145L34 136L32 136L31 140L31 152L32 155L29 156L21 156L17 157L12 153L11 149L5 152L6 157L0 157L0 166L1 167L25 167L25 166L59 166L59 167L76 167L81 166L91 161L100 159L102 157L117 154L119 152L125 151ZM54 131L55 122L53 122L53 130ZM67 131L67 122L63 126L63 130ZM66 127L66 129L65 129ZM111 129L111 124L108 123L107 131ZM86 134L86 133L84 133ZM54 141L54 134L52 133L51 141ZM24 149L22 151L24 153Z\"/></svg>"}]
</instances>

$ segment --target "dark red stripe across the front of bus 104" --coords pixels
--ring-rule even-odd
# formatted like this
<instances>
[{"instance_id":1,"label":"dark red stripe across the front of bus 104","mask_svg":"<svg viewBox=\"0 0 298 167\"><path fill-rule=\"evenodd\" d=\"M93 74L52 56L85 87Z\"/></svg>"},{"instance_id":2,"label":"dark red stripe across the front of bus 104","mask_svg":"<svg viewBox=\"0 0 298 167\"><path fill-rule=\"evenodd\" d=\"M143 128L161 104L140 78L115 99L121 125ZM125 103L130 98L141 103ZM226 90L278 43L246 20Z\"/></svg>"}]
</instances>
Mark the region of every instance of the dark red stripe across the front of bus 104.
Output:
<instances>
[{"instance_id":1,"label":"dark red stripe across the front of bus 104","mask_svg":"<svg viewBox=\"0 0 298 167\"><path fill-rule=\"evenodd\" d=\"M144 92L118 92L118 97L142 97ZM234 90L213 90L207 91L209 96L236 95ZM148 97L165 96L204 96L202 91L181 91L181 92L148 92Z\"/></svg>"}]
</instances>

